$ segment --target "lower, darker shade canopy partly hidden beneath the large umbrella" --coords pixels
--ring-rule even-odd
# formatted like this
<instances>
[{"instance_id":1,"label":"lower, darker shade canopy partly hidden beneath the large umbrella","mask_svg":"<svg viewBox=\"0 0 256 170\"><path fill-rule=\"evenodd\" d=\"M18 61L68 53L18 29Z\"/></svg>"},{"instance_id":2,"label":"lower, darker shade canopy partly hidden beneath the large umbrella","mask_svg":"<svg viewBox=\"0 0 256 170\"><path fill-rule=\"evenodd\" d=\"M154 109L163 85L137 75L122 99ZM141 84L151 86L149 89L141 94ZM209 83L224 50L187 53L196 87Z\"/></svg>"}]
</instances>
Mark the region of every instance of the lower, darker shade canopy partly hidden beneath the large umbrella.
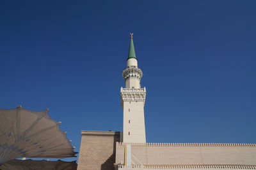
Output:
<instances>
[{"instance_id":1,"label":"lower, darker shade canopy partly hidden beneath the large umbrella","mask_svg":"<svg viewBox=\"0 0 256 170\"><path fill-rule=\"evenodd\" d=\"M10 160L0 166L1 170L75 170L77 169L76 160L65 162L62 160L47 161L47 160Z\"/></svg>"}]
</instances>

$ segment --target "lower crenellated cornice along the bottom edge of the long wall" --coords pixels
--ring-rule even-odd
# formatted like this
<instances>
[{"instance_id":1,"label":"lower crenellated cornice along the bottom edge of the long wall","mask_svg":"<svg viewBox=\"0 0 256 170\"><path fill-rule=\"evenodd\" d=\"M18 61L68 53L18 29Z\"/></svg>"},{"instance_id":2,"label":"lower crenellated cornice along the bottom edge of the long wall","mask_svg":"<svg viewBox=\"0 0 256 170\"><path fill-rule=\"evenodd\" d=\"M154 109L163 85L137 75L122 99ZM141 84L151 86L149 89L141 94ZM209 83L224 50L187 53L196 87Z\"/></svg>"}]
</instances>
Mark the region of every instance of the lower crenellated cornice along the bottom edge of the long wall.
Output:
<instances>
[{"instance_id":1,"label":"lower crenellated cornice along the bottom edge of the long wall","mask_svg":"<svg viewBox=\"0 0 256 170\"><path fill-rule=\"evenodd\" d=\"M122 168L143 168L143 169L256 169L255 165L132 165L115 164L115 167Z\"/></svg>"}]
</instances>

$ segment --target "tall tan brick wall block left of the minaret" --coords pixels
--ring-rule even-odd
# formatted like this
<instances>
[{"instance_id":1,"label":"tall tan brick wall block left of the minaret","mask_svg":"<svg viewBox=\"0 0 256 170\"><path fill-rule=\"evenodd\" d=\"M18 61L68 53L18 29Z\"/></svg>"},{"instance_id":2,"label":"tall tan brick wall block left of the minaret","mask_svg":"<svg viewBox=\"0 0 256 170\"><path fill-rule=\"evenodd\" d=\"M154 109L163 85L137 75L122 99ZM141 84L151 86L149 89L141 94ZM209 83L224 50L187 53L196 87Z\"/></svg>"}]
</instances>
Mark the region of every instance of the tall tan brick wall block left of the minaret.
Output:
<instances>
[{"instance_id":1,"label":"tall tan brick wall block left of the minaret","mask_svg":"<svg viewBox=\"0 0 256 170\"><path fill-rule=\"evenodd\" d=\"M82 131L77 169L113 170L120 132Z\"/></svg>"}]
</instances>

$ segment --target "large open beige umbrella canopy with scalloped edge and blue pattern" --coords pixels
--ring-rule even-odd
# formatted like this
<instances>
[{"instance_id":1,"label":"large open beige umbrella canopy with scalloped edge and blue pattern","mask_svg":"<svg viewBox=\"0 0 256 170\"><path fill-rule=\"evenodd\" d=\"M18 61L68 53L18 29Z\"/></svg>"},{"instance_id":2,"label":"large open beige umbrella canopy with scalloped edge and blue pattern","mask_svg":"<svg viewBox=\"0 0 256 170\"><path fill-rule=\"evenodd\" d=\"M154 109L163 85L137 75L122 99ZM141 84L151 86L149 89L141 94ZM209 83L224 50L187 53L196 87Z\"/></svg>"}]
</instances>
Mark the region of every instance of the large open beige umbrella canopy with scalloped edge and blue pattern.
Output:
<instances>
[{"instance_id":1,"label":"large open beige umbrella canopy with scalloped edge and blue pattern","mask_svg":"<svg viewBox=\"0 0 256 170\"><path fill-rule=\"evenodd\" d=\"M0 165L20 157L76 157L74 147L60 130L61 122L44 111L30 111L21 106L0 109Z\"/></svg>"}]
</instances>

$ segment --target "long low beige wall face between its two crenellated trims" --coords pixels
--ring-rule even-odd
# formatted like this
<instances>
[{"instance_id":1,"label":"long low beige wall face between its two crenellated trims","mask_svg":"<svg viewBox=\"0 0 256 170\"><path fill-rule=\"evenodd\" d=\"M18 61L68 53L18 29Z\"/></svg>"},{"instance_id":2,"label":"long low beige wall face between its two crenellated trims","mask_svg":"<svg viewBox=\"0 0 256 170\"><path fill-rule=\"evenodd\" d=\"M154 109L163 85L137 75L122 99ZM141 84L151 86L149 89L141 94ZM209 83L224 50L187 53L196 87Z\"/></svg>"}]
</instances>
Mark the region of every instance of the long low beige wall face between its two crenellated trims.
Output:
<instances>
[{"instance_id":1,"label":"long low beige wall face between its two crenellated trims","mask_svg":"<svg viewBox=\"0 0 256 170\"><path fill-rule=\"evenodd\" d=\"M116 143L116 164L124 163L125 143ZM256 145L244 143L131 143L132 162L144 166L256 166Z\"/></svg>"}]
</instances>

